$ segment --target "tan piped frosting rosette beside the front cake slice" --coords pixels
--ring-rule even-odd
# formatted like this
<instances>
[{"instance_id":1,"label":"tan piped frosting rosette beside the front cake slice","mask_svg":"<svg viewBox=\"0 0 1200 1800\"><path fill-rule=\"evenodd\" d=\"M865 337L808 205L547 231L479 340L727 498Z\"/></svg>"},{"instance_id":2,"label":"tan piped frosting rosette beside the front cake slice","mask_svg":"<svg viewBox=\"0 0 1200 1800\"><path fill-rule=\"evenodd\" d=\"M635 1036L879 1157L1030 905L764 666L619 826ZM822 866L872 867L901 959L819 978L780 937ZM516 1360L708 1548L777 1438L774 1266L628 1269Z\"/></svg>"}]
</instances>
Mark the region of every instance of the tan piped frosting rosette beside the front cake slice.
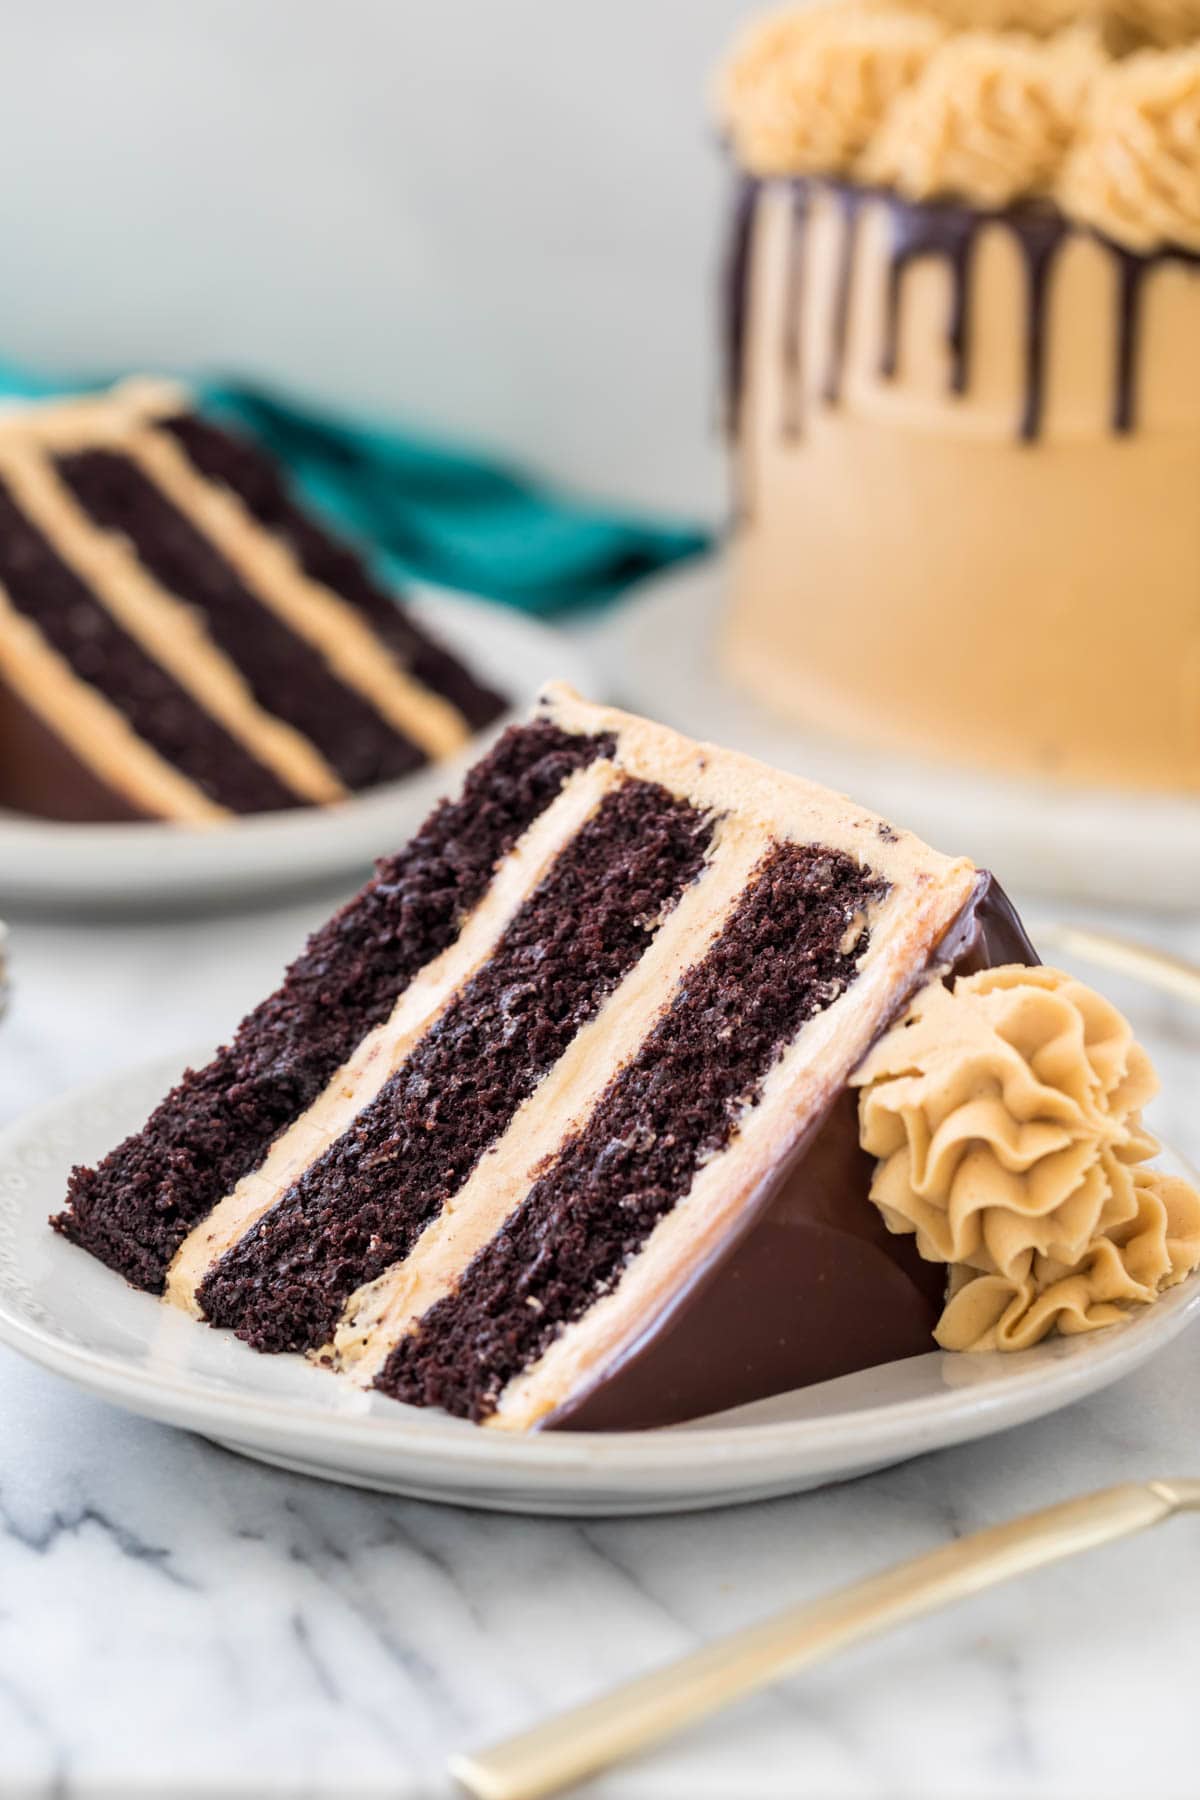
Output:
<instances>
[{"instance_id":1,"label":"tan piped frosting rosette beside the front cake slice","mask_svg":"<svg viewBox=\"0 0 1200 1800\"><path fill-rule=\"evenodd\" d=\"M948 1265L945 1350L1114 1325L1200 1265L1200 1195L1146 1163L1128 1021L1054 968L932 983L855 1075L871 1197Z\"/></svg>"}]
</instances>

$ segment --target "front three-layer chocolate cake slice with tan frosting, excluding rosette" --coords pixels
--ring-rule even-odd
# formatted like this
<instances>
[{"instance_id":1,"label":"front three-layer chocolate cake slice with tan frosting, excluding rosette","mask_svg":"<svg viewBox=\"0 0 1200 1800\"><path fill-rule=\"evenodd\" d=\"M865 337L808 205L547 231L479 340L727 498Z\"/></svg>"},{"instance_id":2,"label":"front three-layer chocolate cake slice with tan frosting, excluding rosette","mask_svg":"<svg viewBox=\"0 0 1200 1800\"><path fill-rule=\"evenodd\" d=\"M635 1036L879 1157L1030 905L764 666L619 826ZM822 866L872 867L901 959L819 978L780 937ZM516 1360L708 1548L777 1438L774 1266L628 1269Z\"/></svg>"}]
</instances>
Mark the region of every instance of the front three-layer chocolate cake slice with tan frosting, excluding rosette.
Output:
<instances>
[{"instance_id":1,"label":"front three-layer chocolate cake slice with tan frosting, excluding rosette","mask_svg":"<svg viewBox=\"0 0 1200 1800\"><path fill-rule=\"evenodd\" d=\"M950 1258L903 1159L873 1201L855 1071L892 1154L894 1021L999 963L1040 974L970 862L552 688L56 1226L416 1406L711 1413L934 1346Z\"/></svg>"}]
</instances>

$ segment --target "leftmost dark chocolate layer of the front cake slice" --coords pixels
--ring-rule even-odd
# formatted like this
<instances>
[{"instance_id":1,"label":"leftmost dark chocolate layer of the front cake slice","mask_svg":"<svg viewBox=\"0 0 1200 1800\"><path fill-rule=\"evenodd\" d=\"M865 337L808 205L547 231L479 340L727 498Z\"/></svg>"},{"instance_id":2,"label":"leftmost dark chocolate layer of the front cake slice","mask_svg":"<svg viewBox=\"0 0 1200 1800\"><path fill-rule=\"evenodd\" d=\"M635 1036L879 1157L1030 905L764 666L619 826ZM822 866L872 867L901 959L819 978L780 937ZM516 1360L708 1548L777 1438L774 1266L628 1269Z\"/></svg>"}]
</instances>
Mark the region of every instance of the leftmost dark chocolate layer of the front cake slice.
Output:
<instances>
[{"instance_id":1,"label":"leftmost dark chocolate layer of the front cake slice","mask_svg":"<svg viewBox=\"0 0 1200 1800\"><path fill-rule=\"evenodd\" d=\"M189 1071L144 1130L76 1168L54 1224L137 1287L160 1292L191 1228L257 1168L417 970L459 936L497 862L610 736L513 727L412 842L308 943L207 1067Z\"/></svg>"}]
</instances>

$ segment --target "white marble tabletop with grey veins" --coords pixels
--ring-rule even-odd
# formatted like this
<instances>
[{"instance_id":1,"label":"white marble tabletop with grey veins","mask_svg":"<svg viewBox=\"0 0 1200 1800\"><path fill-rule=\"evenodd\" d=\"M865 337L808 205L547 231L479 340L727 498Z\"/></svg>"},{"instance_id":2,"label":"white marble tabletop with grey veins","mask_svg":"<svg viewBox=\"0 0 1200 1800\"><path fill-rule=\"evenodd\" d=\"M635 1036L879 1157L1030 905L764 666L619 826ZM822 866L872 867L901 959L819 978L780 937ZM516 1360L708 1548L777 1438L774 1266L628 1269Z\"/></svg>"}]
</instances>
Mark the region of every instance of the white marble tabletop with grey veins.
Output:
<instances>
[{"instance_id":1,"label":"white marble tabletop with grey veins","mask_svg":"<svg viewBox=\"0 0 1200 1800\"><path fill-rule=\"evenodd\" d=\"M0 1121L216 1039L329 907L14 918ZM1200 954L1200 927L1124 922ZM1119 983L1200 1156L1200 1019ZM277 1474L0 1352L0 1795L450 1791L448 1751L1078 1490L1198 1474L1200 1336L1070 1413L680 1519L470 1514ZM1200 1791L1200 1521L984 1597L608 1778L622 1800Z\"/></svg>"}]
</instances>

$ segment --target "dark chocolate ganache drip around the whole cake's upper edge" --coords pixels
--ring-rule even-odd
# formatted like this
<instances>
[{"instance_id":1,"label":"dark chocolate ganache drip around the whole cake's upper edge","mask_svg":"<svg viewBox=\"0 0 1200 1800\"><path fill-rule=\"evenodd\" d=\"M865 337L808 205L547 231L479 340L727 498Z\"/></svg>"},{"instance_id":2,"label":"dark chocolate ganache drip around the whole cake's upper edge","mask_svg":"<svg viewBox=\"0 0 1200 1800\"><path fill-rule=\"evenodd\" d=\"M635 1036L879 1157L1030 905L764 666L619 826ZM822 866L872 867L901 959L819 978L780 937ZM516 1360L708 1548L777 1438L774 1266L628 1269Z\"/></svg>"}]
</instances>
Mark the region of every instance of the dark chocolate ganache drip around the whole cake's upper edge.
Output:
<instances>
[{"instance_id":1,"label":"dark chocolate ganache drip around the whole cake's upper edge","mask_svg":"<svg viewBox=\"0 0 1200 1800\"><path fill-rule=\"evenodd\" d=\"M754 252L754 225L757 202L766 185L786 185L792 191L790 243L786 274L786 304L783 326L784 371L784 434L799 436L802 421L802 338L804 338L804 275L806 239L811 218L811 198L824 189L837 200L842 238L835 275L829 360L822 382L822 400L835 407L842 398L849 319L855 288L855 257L858 248L858 220L867 200L880 202L891 216L891 245L887 268L887 301L883 315L883 347L880 374L894 380L900 373L900 320L903 311L903 284L909 268L923 257L941 257L950 270L950 311L946 342L950 347L950 391L970 391L972 356L972 288L979 236L988 225L1004 225L1015 238L1027 270L1025 310L1025 378L1018 416L1018 436L1031 443L1042 432L1045 414L1047 329L1051 317L1051 284L1072 227L1061 212L1043 202L1024 202L1002 211L982 211L963 202L910 202L891 189L860 187L831 178L795 176L765 182L741 176L734 209L734 232L729 256L725 297L725 371L727 421L730 436L738 434L741 418L741 387L745 376L747 324L750 302L750 270ZM1099 234L1092 234L1114 257L1117 270L1117 342L1114 356L1112 428L1128 434L1137 425L1137 367L1141 347L1142 290L1146 277L1164 261L1200 268L1193 250L1166 247L1139 256Z\"/></svg>"}]
</instances>

